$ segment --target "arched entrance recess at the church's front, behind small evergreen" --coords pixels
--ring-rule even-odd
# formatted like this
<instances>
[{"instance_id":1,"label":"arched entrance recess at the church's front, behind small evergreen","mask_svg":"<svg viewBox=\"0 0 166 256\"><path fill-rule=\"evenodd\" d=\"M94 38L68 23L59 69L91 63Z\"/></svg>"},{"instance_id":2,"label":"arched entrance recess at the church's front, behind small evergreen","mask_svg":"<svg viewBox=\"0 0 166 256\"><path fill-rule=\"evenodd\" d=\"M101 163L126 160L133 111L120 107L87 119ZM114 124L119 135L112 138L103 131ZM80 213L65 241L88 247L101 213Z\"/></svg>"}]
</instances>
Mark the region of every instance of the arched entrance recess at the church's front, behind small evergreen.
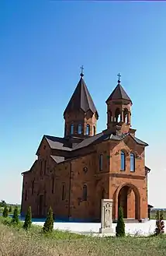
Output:
<instances>
[{"instance_id":1,"label":"arched entrance recess at the church's front, behind small evergreen","mask_svg":"<svg viewBox=\"0 0 166 256\"><path fill-rule=\"evenodd\" d=\"M115 202L115 219L118 218L119 206L123 208L124 219L140 219L140 194L133 184L119 186Z\"/></svg>"}]
</instances>

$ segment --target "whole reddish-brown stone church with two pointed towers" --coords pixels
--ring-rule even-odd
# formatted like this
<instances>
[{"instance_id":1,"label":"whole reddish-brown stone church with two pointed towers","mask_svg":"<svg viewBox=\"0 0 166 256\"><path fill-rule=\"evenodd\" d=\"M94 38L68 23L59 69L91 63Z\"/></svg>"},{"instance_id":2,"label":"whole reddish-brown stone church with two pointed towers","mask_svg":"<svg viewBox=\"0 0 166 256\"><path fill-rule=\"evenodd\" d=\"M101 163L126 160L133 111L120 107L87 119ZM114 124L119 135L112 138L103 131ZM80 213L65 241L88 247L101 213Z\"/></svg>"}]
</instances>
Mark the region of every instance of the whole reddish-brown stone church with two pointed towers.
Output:
<instances>
[{"instance_id":1,"label":"whole reddish-brown stone church with two pointed towers","mask_svg":"<svg viewBox=\"0 0 166 256\"><path fill-rule=\"evenodd\" d=\"M22 216L29 206L33 217L100 221L102 198L119 205L125 219L147 219L146 142L131 128L132 100L120 85L105 101L107 128L96 132L99 113L83 72L64 110L64 137L43 135L30 170L22 173Z\"/></svg>"}]
</instances>

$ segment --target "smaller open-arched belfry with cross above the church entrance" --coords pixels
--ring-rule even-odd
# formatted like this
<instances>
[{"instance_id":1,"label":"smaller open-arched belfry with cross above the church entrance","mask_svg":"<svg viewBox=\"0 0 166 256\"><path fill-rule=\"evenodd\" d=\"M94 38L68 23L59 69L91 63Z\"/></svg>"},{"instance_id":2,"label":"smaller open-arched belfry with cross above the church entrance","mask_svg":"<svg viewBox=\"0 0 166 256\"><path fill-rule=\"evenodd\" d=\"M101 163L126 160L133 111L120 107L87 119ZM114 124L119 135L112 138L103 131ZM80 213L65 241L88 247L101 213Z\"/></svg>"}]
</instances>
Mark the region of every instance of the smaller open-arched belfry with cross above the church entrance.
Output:
<instances>
[{"instance_id":1,"label":"smaller open-arched belfry with cross above the church entrance","mask_svg":"<svg viewBox=\"0 0 166 256\"><path fill-rule=\"evenodd\" d=\"M106 100L107 130L123 134L130 132L132 101L120 85L120 76L118 75L118 85Z\"/></svg>"}]
</instances>

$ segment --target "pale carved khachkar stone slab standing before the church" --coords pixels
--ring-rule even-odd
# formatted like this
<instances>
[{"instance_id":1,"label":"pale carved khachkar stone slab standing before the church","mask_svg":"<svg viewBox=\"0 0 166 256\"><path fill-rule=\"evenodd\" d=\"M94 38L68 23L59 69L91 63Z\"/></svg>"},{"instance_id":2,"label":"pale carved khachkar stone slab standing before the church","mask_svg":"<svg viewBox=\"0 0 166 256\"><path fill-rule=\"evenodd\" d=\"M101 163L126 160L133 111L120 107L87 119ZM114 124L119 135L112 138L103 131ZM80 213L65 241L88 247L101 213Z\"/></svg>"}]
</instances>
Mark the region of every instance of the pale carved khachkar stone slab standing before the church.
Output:
<instances>
[{"instance_id":1,"label":"pale carved khachkar stone slab standing before the church","mask_svg":"<svg viewBox=\"0 0 166 256\"><path fill-rule=\"evenodd\" d=\"M102 219L99 233L113 233L112 230L112 199L102 199Z\"/></svg>"}]
</instances>

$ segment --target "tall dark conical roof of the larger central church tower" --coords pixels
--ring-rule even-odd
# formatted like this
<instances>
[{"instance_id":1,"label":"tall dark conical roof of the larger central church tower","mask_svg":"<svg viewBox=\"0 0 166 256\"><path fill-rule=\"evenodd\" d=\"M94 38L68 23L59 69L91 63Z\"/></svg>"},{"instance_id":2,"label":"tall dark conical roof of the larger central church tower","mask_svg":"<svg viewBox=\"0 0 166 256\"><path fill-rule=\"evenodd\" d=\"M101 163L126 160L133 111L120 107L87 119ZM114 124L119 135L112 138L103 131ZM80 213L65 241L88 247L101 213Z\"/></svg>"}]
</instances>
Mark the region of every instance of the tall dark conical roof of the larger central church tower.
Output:
<instances>
[{"instance_id":1,"label":"tall dark conical roof of the larger central church tower","mask_svg":"<svg viewBox=\"0 0 166 256\"><path fill-rule=\"evenodd\" d=\"M85 81L82 77L79 80L78 86L74 90L73 95L71 96L71 100L69 101L66 109L64 110L64 114L72 110L80 109L85 112L87 112L88 110L92 110L92 113L96 114L97 117L99 117L98 111L96 110L95 104L93 103L92 96L90 95Z\"/></svg>"}]
</instances>

